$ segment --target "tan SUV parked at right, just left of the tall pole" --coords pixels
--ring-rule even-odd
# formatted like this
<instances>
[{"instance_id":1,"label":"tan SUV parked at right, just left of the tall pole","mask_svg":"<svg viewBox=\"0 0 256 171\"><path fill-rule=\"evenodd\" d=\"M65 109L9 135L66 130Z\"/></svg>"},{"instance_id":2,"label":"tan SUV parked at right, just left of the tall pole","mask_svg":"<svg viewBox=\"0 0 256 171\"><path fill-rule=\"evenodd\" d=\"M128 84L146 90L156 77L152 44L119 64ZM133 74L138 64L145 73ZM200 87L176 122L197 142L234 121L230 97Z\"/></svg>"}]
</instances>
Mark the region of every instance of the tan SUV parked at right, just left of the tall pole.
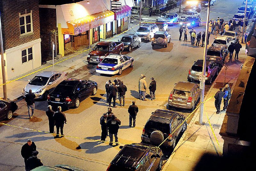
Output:
<instances>
[{"instance_id":1,"label":"tan SUV parked at right, just left of the tall pole","mask_svg":"<svg viewBox=\"0 0 256 171\"><path fill-rule=\"evenodd\" d=\"M190 82L178 82L170 93L169 107L195 109L196 102L200 99L200 89L197 84Z\"/></svg>"}]
</instances>

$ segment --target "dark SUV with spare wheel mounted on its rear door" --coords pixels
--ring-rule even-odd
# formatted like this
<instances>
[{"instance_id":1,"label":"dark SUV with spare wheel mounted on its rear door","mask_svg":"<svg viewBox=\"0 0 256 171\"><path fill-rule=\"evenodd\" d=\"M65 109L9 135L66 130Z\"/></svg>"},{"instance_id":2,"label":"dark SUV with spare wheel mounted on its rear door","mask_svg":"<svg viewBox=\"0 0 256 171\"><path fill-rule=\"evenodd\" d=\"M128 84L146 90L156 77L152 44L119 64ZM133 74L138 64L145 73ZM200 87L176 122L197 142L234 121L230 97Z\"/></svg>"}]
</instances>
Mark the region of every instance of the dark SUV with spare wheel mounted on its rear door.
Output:
<instances>
[{"instance_id":1,"label":"dark SUV with spare wheel mounted on its rear door","mask_svg":"<svg viewBox=\"0 0 256 171\"><path fill-rule=\"evenodd\" d=\"M148 122L142 131L141 140L142 142L160 145L172 134L166 141L164 141L163 145L172 146L174 149L176 138L179 133L184 132L187 129L187 123L184 122L183 125L176 130L184 120L185 117L182 114L169 110L157 109L155 112L152 112L152 115L148 119Z\"/></svg>"}]
</instances>

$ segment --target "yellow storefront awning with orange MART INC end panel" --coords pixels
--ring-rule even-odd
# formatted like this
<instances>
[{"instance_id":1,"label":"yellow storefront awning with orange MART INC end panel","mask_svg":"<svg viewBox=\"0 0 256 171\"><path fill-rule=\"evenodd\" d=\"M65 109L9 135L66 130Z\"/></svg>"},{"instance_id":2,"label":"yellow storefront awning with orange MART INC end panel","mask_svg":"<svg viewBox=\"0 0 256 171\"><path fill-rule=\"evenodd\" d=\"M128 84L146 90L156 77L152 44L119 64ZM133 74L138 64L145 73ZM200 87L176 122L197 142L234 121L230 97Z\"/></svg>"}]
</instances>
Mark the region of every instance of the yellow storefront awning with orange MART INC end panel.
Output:
<instances>
[{"instance_id":1,"label":"yellow storefront awning with orange MART INC end panel","mask_svg":"<svg viewBox=\"0 0 256 171\"><path fill-rule=\"evenodd\" d=\"M62 28L62 34L78 35L97 26L107 24L114 20L114 12L107 10L80 19L68 21L68 28Z\"/></svg>"}]
</instances>

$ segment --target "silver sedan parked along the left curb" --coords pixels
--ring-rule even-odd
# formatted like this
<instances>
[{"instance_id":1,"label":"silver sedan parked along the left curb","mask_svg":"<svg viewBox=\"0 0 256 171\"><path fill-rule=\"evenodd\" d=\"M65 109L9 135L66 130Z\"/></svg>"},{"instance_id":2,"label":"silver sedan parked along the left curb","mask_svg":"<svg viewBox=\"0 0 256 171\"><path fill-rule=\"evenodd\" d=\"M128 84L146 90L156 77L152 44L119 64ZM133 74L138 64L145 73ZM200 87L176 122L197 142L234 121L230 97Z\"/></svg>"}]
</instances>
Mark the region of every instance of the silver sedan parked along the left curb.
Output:
<instances>
[{"instance_id":1,"label":"silver sedan parked along the left curb","mask_svg":"<svg viewBox=\"0 0 256 171\"><path fill-rule=\"evenodd\" d=\"M60 71L44 71L29 80L23 87L22 95L25 97L29 89L36 95L36 99L47 99L47 95L63 80L67 79L68 73Z\"/></svg>"}]
</instances>

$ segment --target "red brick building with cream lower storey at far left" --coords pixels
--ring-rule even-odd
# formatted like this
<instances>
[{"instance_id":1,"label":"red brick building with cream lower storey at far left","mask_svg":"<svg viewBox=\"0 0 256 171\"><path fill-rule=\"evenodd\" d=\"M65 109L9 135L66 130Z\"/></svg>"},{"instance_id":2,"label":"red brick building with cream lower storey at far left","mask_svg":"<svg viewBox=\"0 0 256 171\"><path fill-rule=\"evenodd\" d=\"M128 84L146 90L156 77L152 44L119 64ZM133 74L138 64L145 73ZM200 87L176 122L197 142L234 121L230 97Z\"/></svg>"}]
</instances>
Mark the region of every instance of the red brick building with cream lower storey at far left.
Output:
<instances>
[{"instance_id":1,"label":"red brick building with cream lower storey at far left","mask_svg":"<svg viewBox=\"0 0 256 171\"><path fill-rule=\"evenodd\" d=\"M38 3L38 0L0 1L6 79L41 66Z\"/></svg>"}]
</instances>

